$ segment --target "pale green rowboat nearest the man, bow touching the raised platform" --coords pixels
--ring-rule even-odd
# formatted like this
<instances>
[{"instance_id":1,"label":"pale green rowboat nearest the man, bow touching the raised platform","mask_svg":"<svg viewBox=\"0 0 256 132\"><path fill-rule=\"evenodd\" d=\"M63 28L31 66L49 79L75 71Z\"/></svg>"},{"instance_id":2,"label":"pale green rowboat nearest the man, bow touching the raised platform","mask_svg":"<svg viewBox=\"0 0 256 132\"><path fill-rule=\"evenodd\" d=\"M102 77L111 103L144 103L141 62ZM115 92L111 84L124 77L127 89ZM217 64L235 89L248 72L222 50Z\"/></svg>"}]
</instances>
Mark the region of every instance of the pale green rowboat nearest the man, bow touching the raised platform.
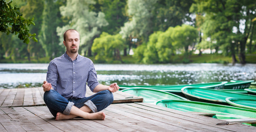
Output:
<instances>
[{"instance_id":1,"label":"pale green rowboat nearest the man, bow touching the raised platform","mask_svg":"<svg viewBox=\"0 0 256 132\"><path fill-rule=\"evenodd\" d=\"M149 88L129 88L121 91L129 93L131 95L142 96L144 99L144 102L146 103L155 104L155 102L158 101L159 99L187 100L186 98L183 98L181 96L178 96L169 92L163 92L163 91L149 89Z\"/></svg>"}]
</instances>

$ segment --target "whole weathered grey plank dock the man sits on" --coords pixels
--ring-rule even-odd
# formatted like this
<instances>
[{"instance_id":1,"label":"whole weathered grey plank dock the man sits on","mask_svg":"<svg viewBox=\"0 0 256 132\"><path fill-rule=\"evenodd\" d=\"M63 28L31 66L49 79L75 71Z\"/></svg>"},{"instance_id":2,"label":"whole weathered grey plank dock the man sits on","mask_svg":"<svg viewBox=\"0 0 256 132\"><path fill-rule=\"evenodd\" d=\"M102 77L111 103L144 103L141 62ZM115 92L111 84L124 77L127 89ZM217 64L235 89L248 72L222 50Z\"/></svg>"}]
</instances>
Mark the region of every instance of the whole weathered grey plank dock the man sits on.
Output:
<instances>
[{"instance_id":1,"label":"whole weathered grey plank dock the man sits on","mask_svg":"<svg viewBox=\"0 0 256 132\"><path fill-rule=\"evenodd\" d=\"M88 92L87 95L92 95ZM55 121L43 101L43 88L0 89L0 132L256 132L256 127L173 110L124 92L114 93L114 103L105 110L104 121Z\"/></svg>"}]
</instances>

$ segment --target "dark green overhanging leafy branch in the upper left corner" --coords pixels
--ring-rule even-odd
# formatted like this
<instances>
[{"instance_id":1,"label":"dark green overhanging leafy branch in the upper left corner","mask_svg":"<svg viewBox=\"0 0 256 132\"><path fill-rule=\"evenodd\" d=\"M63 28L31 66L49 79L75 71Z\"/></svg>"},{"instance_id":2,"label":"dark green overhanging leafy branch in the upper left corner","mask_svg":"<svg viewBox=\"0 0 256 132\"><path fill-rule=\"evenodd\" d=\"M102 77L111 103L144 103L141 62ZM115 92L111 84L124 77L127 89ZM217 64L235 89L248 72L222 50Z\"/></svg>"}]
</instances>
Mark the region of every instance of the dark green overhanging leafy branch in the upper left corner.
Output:
<instances>
[{"instance_id":1,"label":"dark green overhanging leafy branch in the upper left corner","mask_svg":"<svg viewBox=\"0 0 256 132\"><path fill-rule=\"evenodd\" d=\"M22 14L19 13L19 8L12 7L11 3L12 1L6 3L5 0L0 0L0 31L7 35L10 33L19 34L19 39L26 44L30 42L30 38L37 42L36 34L29 33L28 29L31 24L35 26L34 18L23 18Z\"/></svg>"}]
</instances>

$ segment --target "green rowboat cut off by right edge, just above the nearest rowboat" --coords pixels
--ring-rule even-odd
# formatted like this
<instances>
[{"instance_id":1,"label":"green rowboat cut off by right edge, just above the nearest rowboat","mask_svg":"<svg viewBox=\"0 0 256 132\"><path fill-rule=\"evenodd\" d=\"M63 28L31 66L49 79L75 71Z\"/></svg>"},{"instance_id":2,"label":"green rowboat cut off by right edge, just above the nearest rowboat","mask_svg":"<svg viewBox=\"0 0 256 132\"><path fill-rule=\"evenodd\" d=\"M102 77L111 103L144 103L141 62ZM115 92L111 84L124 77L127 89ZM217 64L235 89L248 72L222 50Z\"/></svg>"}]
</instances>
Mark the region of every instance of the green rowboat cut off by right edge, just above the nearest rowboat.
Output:
<instances>
[{"instance_id":1,"label":"green rowboat cut off by right edge, just above the nearest rowboat","mask_svg":"<svg viewBox=\"0 0 256 132\"><path fill-rule=\"evenodd\" d=\"M226 102L233 106L256 110L256 99L226 98Z\"/></svg>"}]
</instances>

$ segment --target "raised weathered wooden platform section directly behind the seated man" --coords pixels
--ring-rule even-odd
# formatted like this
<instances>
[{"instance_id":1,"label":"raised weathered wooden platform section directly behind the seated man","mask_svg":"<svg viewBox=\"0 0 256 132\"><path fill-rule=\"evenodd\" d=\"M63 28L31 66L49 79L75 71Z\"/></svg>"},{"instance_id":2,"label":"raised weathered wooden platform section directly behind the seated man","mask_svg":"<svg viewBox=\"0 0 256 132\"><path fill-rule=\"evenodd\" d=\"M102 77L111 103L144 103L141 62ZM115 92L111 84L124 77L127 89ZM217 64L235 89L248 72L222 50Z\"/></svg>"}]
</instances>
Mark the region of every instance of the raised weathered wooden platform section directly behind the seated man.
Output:
<instances>
[{"instance_id":1,"label":"raised weathered wooden platform section directly behind the seated man","mask_svg":"<svg viewBox=\"0 0 256 132\"><path fill-rule=\"evenodd\" d=\"M43 88L41 87L0 89L0 107L44 106L43 93ZM94 93L88 88L86 96L93 94ZM120 91L113 93L113 95L113 103L143 102L142 97L133 96Z\"/></svg>"}]
</instances>

